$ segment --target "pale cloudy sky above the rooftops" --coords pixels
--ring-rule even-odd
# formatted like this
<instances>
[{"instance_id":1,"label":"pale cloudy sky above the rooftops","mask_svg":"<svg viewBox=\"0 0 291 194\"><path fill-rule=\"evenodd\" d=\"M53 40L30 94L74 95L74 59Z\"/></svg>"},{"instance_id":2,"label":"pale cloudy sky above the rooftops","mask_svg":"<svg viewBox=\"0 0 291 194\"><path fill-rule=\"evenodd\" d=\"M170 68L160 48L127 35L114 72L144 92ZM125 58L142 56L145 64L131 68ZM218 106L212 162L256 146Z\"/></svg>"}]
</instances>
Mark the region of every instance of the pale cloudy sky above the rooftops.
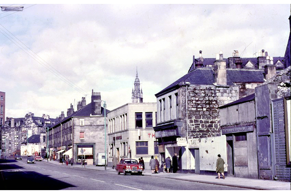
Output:
<instances>
[{"instance_id":1,"label":"pale cloudy sky above the rooftops","mask_svg":"<svg viewBox=\"0 0 291 194\"><path fill-rule=\"evenodd\" d=\"M0 4L0 91L5 117L65 116L92 89L107 109L144 102L187 74L193 56L283 57L290 4Z\"/></svg>"}]
</instances>

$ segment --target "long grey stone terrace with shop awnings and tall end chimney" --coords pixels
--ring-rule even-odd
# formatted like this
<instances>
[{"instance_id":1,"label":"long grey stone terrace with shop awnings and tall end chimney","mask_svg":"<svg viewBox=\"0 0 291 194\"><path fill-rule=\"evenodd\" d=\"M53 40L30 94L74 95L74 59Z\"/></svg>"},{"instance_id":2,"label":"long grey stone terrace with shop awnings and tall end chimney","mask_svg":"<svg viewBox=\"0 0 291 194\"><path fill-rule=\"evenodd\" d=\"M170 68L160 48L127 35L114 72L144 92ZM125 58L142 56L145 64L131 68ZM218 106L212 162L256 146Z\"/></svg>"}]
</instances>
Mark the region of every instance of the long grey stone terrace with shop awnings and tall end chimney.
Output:
<instances>
[{"instance_id":1,"label":"long grey stone terrace with shop awnings and tall end chimney","mask_svg":"<svg viewBox=\"0 0 291 194\"><path fill-rule=\"evenodd\" d=\"M92 90L89 104L86 105L86 99L82 97L76 112L72 104L66 117L62 112L60 121L49 128L50 160L60 160L64 157L74 163L80 163L83 158L87 164L94 164L97 153L105 150L104 122L109 111L101 104L100 92Z\"/></svg>"}]
</instances>

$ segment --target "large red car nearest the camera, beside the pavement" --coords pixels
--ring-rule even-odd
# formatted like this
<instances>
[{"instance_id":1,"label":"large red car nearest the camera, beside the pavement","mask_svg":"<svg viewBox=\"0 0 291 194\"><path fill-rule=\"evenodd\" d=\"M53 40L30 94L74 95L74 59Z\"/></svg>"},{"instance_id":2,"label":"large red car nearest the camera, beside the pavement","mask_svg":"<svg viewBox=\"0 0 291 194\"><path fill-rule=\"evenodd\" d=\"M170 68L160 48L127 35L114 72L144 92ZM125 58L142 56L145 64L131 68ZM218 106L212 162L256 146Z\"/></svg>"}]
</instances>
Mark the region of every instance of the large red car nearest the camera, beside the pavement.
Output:
<instances>
[{"instance_id":1,"label":"large red car nearest the camera, beside the pavement","mask_svg":"<svg viewBox=\"0 0 291 194\"><path fill-rule=\"evenodd\" d=\"M135 159L125 159L116 165L116 171L118 175L120 173L123 173L123 175L126 175L127 173L142 175L143 166L141 166Z\"/></svg>"}]
</instances>

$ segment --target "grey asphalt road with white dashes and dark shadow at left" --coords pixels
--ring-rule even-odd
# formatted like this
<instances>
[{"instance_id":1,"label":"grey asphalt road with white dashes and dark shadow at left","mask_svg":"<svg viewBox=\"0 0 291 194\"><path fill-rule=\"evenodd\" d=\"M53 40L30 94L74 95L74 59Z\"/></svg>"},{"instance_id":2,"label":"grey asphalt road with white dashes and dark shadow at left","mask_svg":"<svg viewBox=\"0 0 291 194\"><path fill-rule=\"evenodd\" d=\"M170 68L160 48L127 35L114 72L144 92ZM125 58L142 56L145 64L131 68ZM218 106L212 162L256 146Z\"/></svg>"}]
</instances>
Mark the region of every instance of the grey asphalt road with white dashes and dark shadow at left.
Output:
<instances>
[{"instance_id":1,"label":"grey asphalt road with white dashes and dark shadow at left","mask_svg":"<svg viewBox=\"0 0 291 194\"><path fill-rule=\"evenodd\" d=\"M6 160L0 163L0 169L4 179L0 180L0 188L4 190L246 190L168 178L123 176L49 162L27 164L26 161Z\"/></svg>"}]
</instances>

